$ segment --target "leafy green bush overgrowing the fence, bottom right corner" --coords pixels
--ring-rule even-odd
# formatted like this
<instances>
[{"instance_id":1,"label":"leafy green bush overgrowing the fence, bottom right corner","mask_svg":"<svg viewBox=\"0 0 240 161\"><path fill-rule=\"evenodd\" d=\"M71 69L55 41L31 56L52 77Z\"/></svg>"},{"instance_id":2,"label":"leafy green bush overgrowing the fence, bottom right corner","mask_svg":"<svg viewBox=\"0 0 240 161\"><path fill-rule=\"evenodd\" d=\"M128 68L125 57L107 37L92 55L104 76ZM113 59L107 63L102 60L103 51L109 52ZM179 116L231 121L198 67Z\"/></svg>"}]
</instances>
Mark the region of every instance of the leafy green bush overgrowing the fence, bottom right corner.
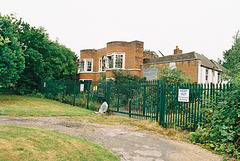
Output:
<instances>
[{"instance_id":1,"label":"leafy green bush overgrowing the fence, bottom right corner","mask_svg":"<svg viewBox=\"0 0 240 161\"><path fill-rule=\"evenodd\" d=\"M240 159L240 70L232 81L233 91L222 94L204 109L203 126L192 133L191 140Z\"/></svg>"}]
</instances>

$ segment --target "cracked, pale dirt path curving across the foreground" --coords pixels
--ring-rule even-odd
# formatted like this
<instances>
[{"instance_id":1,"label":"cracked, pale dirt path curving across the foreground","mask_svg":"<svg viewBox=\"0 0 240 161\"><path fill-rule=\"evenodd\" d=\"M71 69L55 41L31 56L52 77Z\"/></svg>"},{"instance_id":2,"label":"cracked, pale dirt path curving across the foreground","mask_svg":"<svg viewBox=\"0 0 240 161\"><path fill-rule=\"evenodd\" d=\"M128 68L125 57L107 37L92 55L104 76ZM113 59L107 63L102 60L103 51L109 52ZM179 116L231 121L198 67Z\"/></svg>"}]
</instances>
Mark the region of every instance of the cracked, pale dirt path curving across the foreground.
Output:
<instances>
[{"instance_id":1,"label":"cracked, pale dirt path curving across the foreground","mask_svg":"<svg viewBox=\"0 0 240 161\"><path fill-rule=\"evenodd\" d=\"M0 124L36 127L69 133L103 145L121 155L121 161L219 161L221 156L198 146L136 132L132 126L69 121L69 117L5 117Z\"/></svg>"}]
</instances>

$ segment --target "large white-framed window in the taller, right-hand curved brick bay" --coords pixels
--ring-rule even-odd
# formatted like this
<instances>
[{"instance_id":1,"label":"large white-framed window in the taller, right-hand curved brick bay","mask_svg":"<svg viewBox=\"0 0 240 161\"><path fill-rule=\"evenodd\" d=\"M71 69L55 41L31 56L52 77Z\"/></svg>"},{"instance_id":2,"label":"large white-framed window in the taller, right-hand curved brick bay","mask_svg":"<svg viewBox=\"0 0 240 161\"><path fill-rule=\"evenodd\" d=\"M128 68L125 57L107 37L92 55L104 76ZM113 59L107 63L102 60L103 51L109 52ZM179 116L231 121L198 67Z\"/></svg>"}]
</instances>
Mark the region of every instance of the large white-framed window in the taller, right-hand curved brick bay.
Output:
<instances>
[{"instance_id":1,"label":"large white-framed window in the taller, right-hand curved brick bay","mask_svg":"<svg viewBox=\"0 0 240 161\"><path fill-rule=\"evenodd\" d=\"M125 68L125 53L107 54L106 67L109 69L124 69Z\"/></svg>"}]
</instances>

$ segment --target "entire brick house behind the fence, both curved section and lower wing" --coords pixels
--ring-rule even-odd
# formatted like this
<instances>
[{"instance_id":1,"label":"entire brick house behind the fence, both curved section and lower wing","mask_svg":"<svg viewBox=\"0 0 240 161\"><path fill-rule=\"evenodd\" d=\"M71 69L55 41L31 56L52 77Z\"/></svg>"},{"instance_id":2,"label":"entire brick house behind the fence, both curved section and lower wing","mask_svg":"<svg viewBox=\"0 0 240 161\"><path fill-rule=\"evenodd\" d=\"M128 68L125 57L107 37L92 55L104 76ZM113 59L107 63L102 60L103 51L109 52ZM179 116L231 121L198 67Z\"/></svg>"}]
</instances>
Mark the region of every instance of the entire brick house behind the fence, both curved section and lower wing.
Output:
<instances>
[{"instance_id":1,"label":"entire brick house behind the fence, both curved section and lower wing","mask_svg":"<svg viewBox=\"0 0 240 161\"><path fill-rule=\"evenodd\" d=\"M106 74L106 78L112 78L113 69L122 69L143 77L146 69L152 70L154 66L162 65L182 69L186 76L192 77L192 82L197 83L218 83L221 72L226 71L214 60L196 52L182 53L178 47L174 55L158 57L144 51L144 43L141 41L114 41L102 49L80 51L78 79L96 82L102 73Z\"/></svg>"}]
</instances>

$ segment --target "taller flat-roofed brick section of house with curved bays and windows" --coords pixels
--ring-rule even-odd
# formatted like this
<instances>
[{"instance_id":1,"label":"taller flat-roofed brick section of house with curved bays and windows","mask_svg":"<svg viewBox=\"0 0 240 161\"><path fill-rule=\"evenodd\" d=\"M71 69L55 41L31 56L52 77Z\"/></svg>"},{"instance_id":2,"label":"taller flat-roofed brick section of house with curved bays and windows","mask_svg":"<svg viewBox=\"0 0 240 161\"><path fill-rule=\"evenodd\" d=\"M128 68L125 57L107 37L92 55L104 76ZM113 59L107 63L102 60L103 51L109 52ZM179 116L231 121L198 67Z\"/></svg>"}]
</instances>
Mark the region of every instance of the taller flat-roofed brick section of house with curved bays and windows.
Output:
<instances>
[{"instance_id":1,"label":"taller flat-roofed brick section of house with curved bays and windows","mask_svg":"<svg viewBox=\"0 0 240 161\"><path fill-rule=\"evenodd\" d=\"M122 69L124 72L141 76L143 59L156 57L156 54L144 51L141 41L109 42L102 49L80 51L78 79L96 82L102 73L106 73L106 78L112 78L113 69Z\"/></svg>"}]
</instances>

